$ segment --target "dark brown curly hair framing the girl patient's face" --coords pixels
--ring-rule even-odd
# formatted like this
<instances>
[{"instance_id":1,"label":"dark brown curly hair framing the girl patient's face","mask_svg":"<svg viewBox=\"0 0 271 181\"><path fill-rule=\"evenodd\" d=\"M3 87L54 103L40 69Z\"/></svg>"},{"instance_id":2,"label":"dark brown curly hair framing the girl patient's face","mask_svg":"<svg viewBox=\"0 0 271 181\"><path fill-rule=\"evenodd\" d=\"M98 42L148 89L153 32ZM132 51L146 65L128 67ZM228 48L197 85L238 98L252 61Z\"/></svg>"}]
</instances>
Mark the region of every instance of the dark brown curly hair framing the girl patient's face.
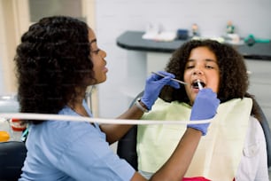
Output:
<instances>
[{"instance_id":1,"label":"dark brown curly hair framing the girl patient's face","mask_svg":"<svg viewBox=\"0 0 271 181\"><path fill-rule=\"evenodd\" d=\"M252 98L254 97L247 92L249 86L249 78L247 69L244 63L244 58L238 53L233 46L226 43L219 43L214 40L191 40L182 44L172 57L169 59L165 70L176 76L176 79L183 80L184 68L190 57L190 52L197 47L207 47L213 51L220 67L220 89L218 98L221 103L232 98ZM170 86L165 86L161 91L160 98L167 102L174 100L190 103L184 86L180 89L174 89ZM255 103L255 102L254 102ZM259 119L257 104L253 103L252 114ZM260 119L259 119L260 120Z\"/></svg>"}]
</instances>

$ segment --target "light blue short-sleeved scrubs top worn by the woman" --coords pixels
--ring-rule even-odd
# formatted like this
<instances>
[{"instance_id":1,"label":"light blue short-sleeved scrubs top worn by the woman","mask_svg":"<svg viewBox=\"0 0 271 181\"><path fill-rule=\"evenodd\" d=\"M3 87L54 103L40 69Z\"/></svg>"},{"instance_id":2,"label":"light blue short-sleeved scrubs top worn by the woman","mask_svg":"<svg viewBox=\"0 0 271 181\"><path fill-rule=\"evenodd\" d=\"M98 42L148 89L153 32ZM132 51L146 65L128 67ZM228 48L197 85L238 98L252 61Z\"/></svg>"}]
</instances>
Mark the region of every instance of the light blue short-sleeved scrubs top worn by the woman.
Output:
<instances>
[{"instance_id":1,"label":"light blue short-sleeved scrubs top worn by the woman","mask_svg":"<svg viewBox=\"0 0 271 181\"><path fill-rule=\"evenodd\" d=\"M68 106L58 114L79 116ZM19 181L130 180L135 174L127 161L113 153L97 123L47 121L31 125L26 144L27 159Z\"/></svg>"}]
</instances>

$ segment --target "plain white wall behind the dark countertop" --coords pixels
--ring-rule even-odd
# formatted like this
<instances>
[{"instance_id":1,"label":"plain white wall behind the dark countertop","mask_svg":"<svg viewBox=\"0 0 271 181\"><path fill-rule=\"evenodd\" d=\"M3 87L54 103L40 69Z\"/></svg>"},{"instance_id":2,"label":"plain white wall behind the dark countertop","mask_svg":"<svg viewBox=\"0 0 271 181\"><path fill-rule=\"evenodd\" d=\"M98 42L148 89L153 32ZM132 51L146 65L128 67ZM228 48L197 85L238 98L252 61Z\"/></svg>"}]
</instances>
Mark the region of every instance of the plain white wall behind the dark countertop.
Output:
<instances>
[{"instance_id":1,"label":"plain white wall behind the dark countertop","mask_svg":"<svg viewBox=\"0 0 271 181\"><path fill-rule=\"evenodd\" d=\"M145 54L116 45L116 38L126 30L144 31L150 22L166 30L190 29L197 23L201 35L219 36L232 20L236 33L243 37L271 38L270 0L97 0L96 5L95 31L98 45L107 52L109 68L107 81L98 86L100 117L116 117L125 111L129 96L137 92L129 90L129 85L144 82L142 75L136 75L136 68L144 64L141 59Z\"/></svg>"}]
</instances>

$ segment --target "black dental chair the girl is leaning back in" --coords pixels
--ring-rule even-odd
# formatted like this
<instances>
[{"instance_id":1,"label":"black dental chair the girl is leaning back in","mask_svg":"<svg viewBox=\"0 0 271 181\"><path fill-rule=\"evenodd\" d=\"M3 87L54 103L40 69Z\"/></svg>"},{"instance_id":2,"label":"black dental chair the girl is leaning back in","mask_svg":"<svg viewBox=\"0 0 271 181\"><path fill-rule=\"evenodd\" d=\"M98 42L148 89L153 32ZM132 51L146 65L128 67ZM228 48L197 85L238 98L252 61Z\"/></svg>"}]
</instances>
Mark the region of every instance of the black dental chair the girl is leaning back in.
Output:
<instances>
[{"instance_id":1,"label":"black dental chair the girl is leaning back in","mask_svg":"<svg viewBox=\"0 0 271 181\"><path fill-rule=\"evenodd\" d=\"M143 91L140 92L136 98L133 99L132 103L130 104L130 107L135 104L135 101L138 98L141 98L143 96ZM263 113L262 109L260 108L259 104L257 102L256 106L259 107L259 114L261 117L261 127L264 131L265 138L267 141L267 165L268 168L271 168L271 130L269 127L269 124L267 122L267 117ZM137 153L136 153L136 134L137 134L137 126L135 125L132 127L131 130L128 131L128 133L123 136L123 138L120 138L117 146L117 154L120 156L120 158L125 159L130 163L130 165L137 169Z\"/></svg>"}]
</instances>

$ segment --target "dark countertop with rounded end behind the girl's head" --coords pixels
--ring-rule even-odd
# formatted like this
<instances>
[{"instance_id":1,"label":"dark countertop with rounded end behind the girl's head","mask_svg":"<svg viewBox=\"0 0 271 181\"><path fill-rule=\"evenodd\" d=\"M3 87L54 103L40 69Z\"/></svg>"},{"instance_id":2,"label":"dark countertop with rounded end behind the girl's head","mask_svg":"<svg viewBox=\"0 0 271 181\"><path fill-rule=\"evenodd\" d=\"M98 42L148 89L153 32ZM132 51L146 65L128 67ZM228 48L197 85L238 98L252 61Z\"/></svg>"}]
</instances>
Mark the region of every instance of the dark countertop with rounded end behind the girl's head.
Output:
<instances>
[{"instance_id":1,"label":"dark countertop with rounded end behind the girl's head","mask_svg":"<svg viewBox=\"0 0 271 181\"><path fill-rule=\"evenodd\" d=\"M144 40L143 34L142 31L126 31L117 38L117 45L127 50L172 53L186 42L186 40L174 40L173 42ZM252 46L233 44L233 46L244 56L244 59L271 61L271 43L255 43Z\"/></svg>"}]
</instances>

